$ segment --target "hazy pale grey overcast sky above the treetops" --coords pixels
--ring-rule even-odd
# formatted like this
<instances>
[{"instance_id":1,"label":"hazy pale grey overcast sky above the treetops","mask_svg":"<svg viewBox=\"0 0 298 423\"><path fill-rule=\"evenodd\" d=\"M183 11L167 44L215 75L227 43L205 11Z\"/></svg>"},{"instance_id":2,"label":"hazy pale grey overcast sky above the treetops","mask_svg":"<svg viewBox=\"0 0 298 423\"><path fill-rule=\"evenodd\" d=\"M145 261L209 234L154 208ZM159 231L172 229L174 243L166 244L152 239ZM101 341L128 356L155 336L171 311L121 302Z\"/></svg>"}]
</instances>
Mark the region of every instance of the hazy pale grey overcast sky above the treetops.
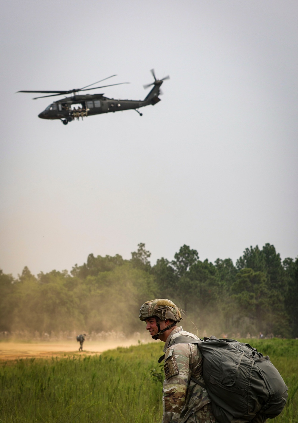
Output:
<instances>
[{"instance_id":1,"label":"hazy pale grey overcast sky above the treetops","mask_svg":"<svg viewBox=\"0 0 298 423\"><path fill-rule=\"evenodd\" d=\"M1 13L0 268L130 258L298 255L297 0L11 0ZM38 113L112 74L162 101L63 125ZM91 91L94 93L97 91ZM58 99L59 97L54 97Z\"/></svg>"}]
</instances>

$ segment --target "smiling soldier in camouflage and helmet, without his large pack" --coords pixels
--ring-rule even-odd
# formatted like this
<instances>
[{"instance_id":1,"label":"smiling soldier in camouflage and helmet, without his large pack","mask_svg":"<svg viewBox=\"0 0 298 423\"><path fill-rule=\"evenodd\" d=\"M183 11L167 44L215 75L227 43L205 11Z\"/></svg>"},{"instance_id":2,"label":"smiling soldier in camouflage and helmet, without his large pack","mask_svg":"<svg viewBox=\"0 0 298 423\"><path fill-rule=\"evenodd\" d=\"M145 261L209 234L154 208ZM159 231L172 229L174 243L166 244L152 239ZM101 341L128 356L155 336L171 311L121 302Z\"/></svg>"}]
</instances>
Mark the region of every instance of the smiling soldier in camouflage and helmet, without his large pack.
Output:
<instances>
[{"instance_id":1,"label":"smiling soldier in camouflage and helmet, without his large pack","mask_svg":"<svg viewBox=\"0 0 298 423\"><path fill-rule=\"evenodd\" d=\"M191 343L172 345L181 335L199 339L177 327L182 319L179 308L168 299L153 299L142 305L139 318L146 322L153 339L165 343L162 423L217 423L207 390L191 379L204 384L199 347Z\"/></svg>"}]
</instances>

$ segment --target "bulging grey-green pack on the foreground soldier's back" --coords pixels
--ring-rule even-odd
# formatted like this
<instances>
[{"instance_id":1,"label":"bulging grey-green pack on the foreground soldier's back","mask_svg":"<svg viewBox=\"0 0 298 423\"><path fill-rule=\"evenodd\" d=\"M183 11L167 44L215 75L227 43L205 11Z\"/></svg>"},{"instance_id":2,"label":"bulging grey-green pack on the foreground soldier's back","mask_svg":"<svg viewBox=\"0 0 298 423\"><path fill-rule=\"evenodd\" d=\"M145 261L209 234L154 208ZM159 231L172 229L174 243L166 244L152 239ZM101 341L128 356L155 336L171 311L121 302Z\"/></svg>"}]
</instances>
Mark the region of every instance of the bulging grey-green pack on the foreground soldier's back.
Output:
<instances>
[{"instance_id":1,"label":"bulging grey-green pack on the foreground soldier's back","mask_svg":"<svg viewBox=\"0 0 298 423\"><path fill-rule=\"evenodd\" d=\"M220 423L246 423L278 416L287 402L287 386L268 355L247 343L215 336L196 340L183 335L176 343L197 343L203 354L203 379L212 411ZM194 382L201 382L192 378Z\"/></svg>"}]
</instances>

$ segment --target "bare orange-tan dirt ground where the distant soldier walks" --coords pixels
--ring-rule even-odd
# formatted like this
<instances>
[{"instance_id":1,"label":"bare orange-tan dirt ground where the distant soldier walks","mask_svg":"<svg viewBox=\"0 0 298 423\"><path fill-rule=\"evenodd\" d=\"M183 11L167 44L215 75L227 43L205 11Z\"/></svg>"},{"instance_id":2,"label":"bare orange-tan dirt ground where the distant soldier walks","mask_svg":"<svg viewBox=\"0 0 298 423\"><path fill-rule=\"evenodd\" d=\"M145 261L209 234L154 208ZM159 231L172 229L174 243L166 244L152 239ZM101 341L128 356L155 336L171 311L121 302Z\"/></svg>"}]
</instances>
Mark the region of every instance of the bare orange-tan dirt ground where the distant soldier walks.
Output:
<instances>
[{"instance_id":1,"label":"bare orange-tan dirt ground where the distant soldier walks","mask_svg":"<svg viewBox=\"0 0 298 423\"><path fill-rule=\"evenodd\" d=\"M137 345L138 341L85 341L83 352L79 352L77 341L56 341L40 343L0 342L0 361L19 360L24 358L68 357L74 354L96 355L107 349L118 346L128 347Z\"/></svg>"}]
</instances>

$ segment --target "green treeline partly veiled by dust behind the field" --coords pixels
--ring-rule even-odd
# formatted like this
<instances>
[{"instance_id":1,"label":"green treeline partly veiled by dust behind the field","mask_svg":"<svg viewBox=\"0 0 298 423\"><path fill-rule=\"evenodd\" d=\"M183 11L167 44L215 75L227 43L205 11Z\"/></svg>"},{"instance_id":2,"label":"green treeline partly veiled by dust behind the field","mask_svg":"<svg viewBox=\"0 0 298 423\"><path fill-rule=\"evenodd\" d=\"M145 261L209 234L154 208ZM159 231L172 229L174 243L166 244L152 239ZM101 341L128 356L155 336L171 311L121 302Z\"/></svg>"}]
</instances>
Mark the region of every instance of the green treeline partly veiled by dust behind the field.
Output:
<instances>
[{"instance_id":1,"label":"green treeline partly veiled by dust behind the field","mask_svg":"<svg viewBox=\"0 0 298 423\"><path fill-rule=\"evenodd\" d=\"M298 258L281 260L275 247L246 248L233 264L201 261L183 245L174 260L153 266L140 243L130 260L94 257L68 271L36 276L25 267L13 278L0 270L0 331L123 331L144 329L139 307L172 299L185 312L183 327L200 336L298 337Z\"/></svg>"}]
</instances>

